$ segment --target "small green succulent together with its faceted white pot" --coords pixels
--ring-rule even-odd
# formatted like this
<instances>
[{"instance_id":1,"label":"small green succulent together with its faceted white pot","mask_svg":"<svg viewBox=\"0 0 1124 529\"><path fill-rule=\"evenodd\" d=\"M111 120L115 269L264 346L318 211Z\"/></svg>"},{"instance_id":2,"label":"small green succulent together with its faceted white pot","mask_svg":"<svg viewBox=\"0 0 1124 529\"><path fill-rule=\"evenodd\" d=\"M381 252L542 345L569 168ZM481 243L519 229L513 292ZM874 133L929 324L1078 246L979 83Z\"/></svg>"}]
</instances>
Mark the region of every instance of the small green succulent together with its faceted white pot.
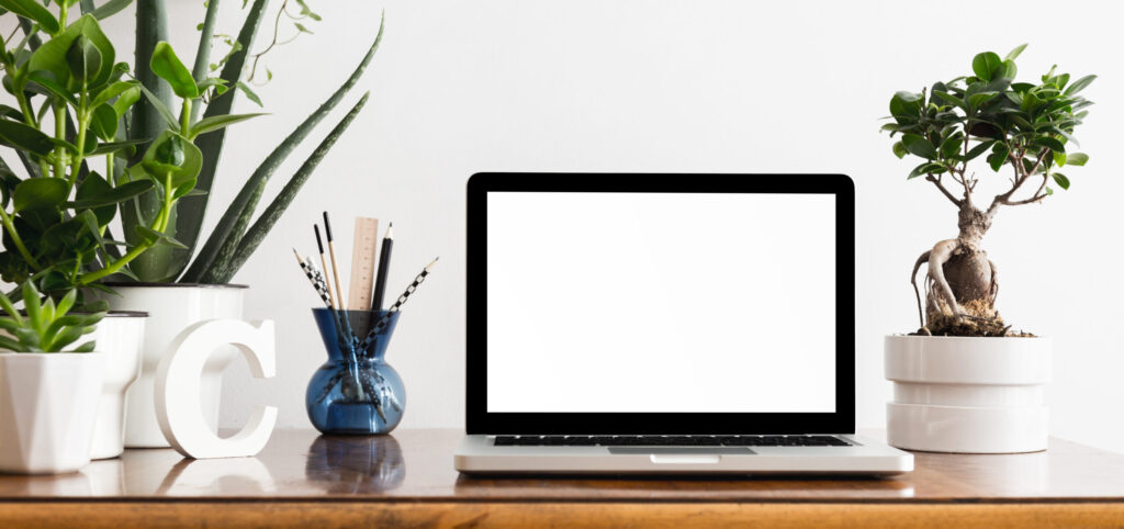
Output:
<instances>
[{"instance_id":1,"label":"small green succulent together with its faceted white pot","mask_svg":"<svg viewBox=\"0 0 1124 529\"><path fill-rule=\"evenodd\" d=\"M93 332L102 312L74 314L78 291L43 301L22 284L24 310L0 293L0 472L57 474L90 463L103 353Z\"/></svg>"}]
</instances>

